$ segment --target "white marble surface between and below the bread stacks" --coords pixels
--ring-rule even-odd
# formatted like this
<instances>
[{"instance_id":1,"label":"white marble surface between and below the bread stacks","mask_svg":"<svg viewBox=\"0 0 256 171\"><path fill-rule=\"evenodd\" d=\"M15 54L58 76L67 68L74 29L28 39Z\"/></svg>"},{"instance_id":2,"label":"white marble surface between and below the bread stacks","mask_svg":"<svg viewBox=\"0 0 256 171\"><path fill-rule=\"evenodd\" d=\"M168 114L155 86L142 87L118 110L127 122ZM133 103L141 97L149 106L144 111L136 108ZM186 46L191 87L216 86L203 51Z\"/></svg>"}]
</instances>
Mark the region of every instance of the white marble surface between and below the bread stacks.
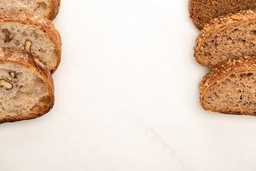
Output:
<instances>
[{"instance_id":1,"label":"white marble surface between and below the bread stacks","mask_svg":"<svg viewBox=\"0 0 256 171\"><path fill-rule=\"evenodd\" d=\"M0 125L1 171L256 169L256 117L203 111L188 0L61 0L54 109Z\"/></svg>"}]
</instances>

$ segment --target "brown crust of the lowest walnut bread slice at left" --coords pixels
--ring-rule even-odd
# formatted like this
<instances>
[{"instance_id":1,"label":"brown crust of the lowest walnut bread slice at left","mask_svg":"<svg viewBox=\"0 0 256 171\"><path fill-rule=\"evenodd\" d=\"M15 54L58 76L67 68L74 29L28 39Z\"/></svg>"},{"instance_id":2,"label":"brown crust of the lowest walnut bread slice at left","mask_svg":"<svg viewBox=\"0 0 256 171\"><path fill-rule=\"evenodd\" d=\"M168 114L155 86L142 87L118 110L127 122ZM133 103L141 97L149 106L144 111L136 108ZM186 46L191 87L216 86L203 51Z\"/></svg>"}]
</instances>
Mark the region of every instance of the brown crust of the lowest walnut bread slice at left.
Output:
<instances>
[{"instance_id":1,"label":"brown crust of the lowest walnut bread slice at left","mask_svg":"<svg viewBox=\"0 0 256 171\"><path fill-rule=\"evenodd\" d=\"M51 98L51 102L48 104L48 108L39 114L29 113L27 116L16 116L16 117L4 117L0 118L0 123L5 122L16 122L21 120L29 120L35 117L41 117L48 113L54 106L54 80L51 73L48 70L46 64L39 58L33 56L29 52L17 49L17 48L0 48L0 62L10 62L17 65L22 65L38 73L42 76L43 81L48 85L48 95Z\"/></svg>"}]
</instances>

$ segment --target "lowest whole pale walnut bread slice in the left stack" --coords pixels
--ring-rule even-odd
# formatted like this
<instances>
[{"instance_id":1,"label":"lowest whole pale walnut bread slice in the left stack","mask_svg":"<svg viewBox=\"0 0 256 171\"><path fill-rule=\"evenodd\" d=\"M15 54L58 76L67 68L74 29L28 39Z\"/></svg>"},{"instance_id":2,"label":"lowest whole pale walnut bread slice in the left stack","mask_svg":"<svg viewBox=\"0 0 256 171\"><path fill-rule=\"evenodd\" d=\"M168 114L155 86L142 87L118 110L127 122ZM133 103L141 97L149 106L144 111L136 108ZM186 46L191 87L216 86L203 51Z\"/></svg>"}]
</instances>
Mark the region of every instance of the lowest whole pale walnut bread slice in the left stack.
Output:
<instances>
[{"instance_id":1,"label":"lowest whole pale walnut bread slice in the left stack","mask_svg":"<svg viewBox=\"0 0 256 171\"><path fill-rule=\"evenodd\" d=\"M44 62L0 48L0 123L40 117L54 105L54 82Z\"/></svg>"}]
</instances>

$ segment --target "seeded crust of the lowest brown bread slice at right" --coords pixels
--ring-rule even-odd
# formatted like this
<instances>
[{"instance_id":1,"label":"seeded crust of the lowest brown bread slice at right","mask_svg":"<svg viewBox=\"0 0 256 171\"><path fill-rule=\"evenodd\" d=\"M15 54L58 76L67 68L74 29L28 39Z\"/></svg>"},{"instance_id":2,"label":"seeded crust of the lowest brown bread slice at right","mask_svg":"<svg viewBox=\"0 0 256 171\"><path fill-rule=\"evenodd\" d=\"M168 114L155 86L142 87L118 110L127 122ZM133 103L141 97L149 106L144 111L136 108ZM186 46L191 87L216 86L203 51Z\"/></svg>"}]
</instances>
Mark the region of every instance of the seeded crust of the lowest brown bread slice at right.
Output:
<instances>
[{"instance_id":1,"label":"seeded crust of the lowest brown bread slice at right","mask_svg":"<svg viewBox=\"0 0 256 171\"><path fill-rule=\"evenodd\" d=\"M202 108L211 111L207 109L203 102L204 96L206 95L206 92L211 87L211 85L214 85L217 81L219 81L221 78L226 77L227 75L237 73L240 71L245 70L253 70L256 69L256 56L249 57L239 57L230 59L227 61L222 62L219 66L214 67L209 73L207 73L205 76L202 77L201 83L198 85L200 88L200 102L202 104ZM240 111L214 111L214 112L220 112L225 114L245 114L245 115L255 115L252 113L240 113Z\"/></svg>"}]
</instances>

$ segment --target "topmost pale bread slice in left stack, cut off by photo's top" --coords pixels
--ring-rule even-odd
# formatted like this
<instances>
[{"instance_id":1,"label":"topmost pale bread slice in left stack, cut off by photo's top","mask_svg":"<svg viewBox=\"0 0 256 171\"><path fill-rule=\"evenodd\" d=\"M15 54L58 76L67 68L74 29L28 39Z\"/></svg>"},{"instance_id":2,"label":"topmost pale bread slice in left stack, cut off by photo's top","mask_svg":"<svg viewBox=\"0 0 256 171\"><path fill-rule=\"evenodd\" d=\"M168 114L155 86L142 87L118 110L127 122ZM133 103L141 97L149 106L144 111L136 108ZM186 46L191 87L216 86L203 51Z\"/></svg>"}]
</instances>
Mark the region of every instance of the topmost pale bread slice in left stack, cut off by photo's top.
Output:
<instances>
[{"instance_id":1,"label":"topmost pale bread slice in left stack, cut off by photo's top","mask_svg":"<svg viewBox=\"0 0 256 171\"><path fill-rule=\"evenodd\" d=\"M54 20L61 6L61 0L1 0L0 12L23 11L35 16Z\"/></svg>"}]
</instances>

